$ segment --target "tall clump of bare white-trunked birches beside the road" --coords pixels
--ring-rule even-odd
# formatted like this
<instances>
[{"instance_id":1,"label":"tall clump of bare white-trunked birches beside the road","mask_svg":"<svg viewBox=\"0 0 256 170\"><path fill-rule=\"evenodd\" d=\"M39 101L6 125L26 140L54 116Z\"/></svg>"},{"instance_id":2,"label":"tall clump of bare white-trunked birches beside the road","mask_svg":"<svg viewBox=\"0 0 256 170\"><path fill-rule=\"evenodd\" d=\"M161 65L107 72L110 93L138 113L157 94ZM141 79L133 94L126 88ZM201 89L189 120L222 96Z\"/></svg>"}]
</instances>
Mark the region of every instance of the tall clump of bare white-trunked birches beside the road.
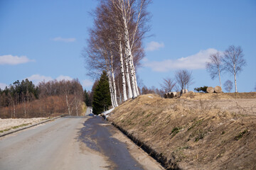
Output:
<instances>
[{"instance_id":1,"label":"tall clump of bare white-trunked birches beside the road","mask_svg":"<svg viewBox=\"0 0 256 170\"><path fill-rule=\"evenodd\" d=\"M122 76L123 97L119 98L126 101L127 98L139 95L136 67L139 60L144 57L142 38L148 30L146 6L149 2L100 1L100 5L93 13L94 26L90 30L90 39L84 56L87 65L90 66L90 75L99 77L99 74L106 70L113 107L118 106L115 74Z\"/></svg>"}]
</instances>

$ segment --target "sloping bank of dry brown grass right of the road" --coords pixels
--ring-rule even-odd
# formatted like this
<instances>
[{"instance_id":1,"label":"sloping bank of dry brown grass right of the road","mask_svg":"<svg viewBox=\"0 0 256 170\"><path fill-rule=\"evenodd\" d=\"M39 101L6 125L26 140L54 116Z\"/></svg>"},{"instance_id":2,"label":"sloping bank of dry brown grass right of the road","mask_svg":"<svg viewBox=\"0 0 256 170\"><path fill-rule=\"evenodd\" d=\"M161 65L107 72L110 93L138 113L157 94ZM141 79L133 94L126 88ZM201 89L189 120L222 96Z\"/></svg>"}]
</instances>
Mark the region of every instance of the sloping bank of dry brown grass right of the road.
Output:
<instances>
[{"instance_id":1,"label":"sloping bank of dry brown grass right of the road","mask_svg":"<svg viewBox=\"0 0 256 170\"><path fill-rule=\"evenodd\" d=\"M256 169L255 93L149 94L110 120L155 152L167 169Z\"/></svg>"}]
</instances>

